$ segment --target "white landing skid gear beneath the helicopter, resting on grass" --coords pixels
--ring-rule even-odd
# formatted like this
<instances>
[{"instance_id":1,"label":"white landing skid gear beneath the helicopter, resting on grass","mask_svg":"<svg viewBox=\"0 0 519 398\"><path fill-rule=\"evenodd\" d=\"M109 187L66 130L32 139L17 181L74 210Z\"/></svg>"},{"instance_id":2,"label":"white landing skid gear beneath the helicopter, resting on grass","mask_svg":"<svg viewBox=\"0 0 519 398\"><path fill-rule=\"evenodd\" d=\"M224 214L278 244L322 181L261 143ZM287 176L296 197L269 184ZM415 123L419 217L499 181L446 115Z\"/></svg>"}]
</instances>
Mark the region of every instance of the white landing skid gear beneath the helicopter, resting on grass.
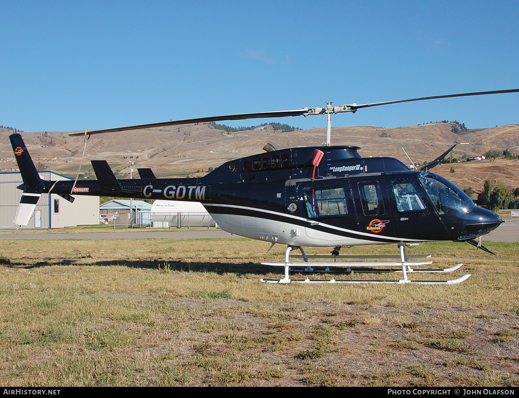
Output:
<instances>
[{"instance_id":1,"label":"white landing skid gear beneath the helicopter, resting on grass","mask_svg":"<svg viewBox=\"0 0 519 398\"><path fill-rule=\"evenodd\" d=\"M432 261L409 261L409 258L427 258L430 255L422 255L422 256L407 256L407 250L405 244L399 244L400 248L400 256L307 256L302 247L294 247L288 246L285 252L285 261L284 262L262 262L265 266L272 267L283 267L284 268L284 278L282 279L260 279L263 283L278 283L278 284L289 284L289 283L392 283L392 284L405 284L405 283L413 283L413 284L421 284L421 285L456 285L463 281L466 281L471 275L466 274L457 279L446 280L446 281L411 281L407 278L407 274L409 273L448 273L453 272L460 269L463 264L456 264L456 266L451 268L443 268L443 269L414 269L416 266L424 266L431 264ZM302 256L293 256L296 258L303 258L305 260L304 263L301 262L291 262L289 261L290 252L298 248L301 250ZM400 258L400 261L333 261L333 262L309 262L308 258ZM305 265L306 268L303 270L296 270L293 267L301 267ZM315 267L323 268L324 270L315 270ZM355 280L337 280L335 278L332 279L304 279L304 280L292 280L289 277L289 271L294 272L334 272L330 269L333 268L346 268L346 272L355 272L355 273L364 273L364 272L398 272L403 274L403 278L399 281L355 281ZM401 267L399 270L394 269L366 269L367 267Z\"/></svg>"}]
</instances>

